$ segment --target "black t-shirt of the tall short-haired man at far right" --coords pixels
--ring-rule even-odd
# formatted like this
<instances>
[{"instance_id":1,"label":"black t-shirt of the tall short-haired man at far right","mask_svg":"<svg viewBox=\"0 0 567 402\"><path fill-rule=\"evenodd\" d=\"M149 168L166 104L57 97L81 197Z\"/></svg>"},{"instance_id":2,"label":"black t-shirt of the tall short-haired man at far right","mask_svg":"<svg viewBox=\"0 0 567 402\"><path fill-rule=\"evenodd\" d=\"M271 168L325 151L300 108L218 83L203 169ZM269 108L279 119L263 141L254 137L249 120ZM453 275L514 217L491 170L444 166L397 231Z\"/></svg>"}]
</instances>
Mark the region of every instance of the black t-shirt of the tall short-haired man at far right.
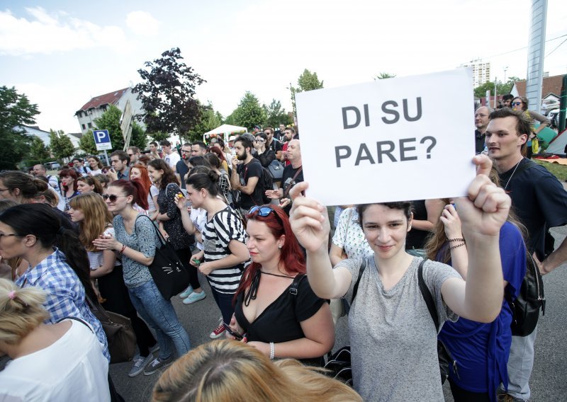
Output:
<instances>
[{"instance_id":1,"label":"black t-shirt of the tall short-haired man at far right","mask_svg":"<svg viewBox=\"0 0 567 402\"><path fill-rule=\"evenodd\" d=\"M525 163L534 162L524 158L517 168ZM512 198L512 208L527 228L529 251L536 251L542 260L547 230L567 224L567 192L543 166L534 163L520 173L514 173L515 168L499 175L500 185Z\"/></svg>"}]
</instances>

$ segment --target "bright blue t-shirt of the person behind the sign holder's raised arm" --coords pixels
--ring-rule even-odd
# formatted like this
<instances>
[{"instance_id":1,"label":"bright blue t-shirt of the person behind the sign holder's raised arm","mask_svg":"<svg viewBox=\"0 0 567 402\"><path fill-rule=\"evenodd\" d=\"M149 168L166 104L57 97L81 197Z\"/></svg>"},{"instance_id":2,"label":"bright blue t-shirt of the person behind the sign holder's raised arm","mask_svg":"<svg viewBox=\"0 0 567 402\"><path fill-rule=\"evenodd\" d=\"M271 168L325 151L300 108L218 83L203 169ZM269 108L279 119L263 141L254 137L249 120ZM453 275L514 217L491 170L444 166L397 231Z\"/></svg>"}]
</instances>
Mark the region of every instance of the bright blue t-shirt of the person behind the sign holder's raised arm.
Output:
<instances>
[{"instance_id":1,"label":"bright blue t-shirt of the person behind the sign holder's raised arm","mask_svg":"<svg viewBox=\"0 0 567 402\"><path fill-rule=\"evenodd\" d=\"M508 282L505 292L516 298L526 275L526 246L520 230L510 222L500 229L500 260L504 280ZM467 391L488 392L494 396L491 400L495 400L500 383L507 386L511 323L512 311L505 299L492 323L477 323L462 317L454 323L446 321L439 339L451 352L459 371L456 377L449 364L451 381Z\"/></svg>"}]
</instances>

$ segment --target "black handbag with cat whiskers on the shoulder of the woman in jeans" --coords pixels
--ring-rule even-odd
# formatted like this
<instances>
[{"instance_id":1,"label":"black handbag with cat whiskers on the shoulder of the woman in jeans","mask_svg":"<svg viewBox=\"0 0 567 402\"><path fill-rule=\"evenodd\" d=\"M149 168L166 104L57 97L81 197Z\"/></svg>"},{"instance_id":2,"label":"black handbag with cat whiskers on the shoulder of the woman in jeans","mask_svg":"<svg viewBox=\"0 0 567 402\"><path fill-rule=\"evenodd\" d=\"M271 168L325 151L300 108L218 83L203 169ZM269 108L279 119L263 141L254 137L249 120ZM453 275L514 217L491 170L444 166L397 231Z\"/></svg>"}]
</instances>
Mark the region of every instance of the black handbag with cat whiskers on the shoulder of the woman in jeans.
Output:
<instances>
[{"instance_id":1,"label":"black handbag with cat whiskers on the shoulder of the woman in jeans","mask_svg":"<svg viewBox=\"0 0 567 402\"><path fill-rule=\"evenodd\" d=\"M159 237L159 246L155 248L154 260L148 268L159 293L164 299L169 300L189 286L189 271L186 270L171 244L164 239L150 217L147 219L150 220Z\"/></svg>"}]
</instances>

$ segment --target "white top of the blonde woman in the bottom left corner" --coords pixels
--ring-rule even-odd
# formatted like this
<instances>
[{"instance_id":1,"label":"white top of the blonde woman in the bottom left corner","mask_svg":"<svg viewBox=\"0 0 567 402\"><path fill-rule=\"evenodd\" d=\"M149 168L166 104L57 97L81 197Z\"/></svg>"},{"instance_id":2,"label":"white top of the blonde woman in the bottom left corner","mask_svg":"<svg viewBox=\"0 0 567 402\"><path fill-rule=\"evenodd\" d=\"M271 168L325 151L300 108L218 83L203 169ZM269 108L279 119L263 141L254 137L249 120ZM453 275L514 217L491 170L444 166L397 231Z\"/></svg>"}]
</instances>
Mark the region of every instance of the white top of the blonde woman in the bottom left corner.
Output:
<instances>
[{"instance_id":1,"label":"white top of the blonde woman in the bottom left corner","mask_svg":"<svg viewBox=\"0 0 567 402\"><path fill-rule=\"evenodd\" d=\"M110 401L108 360L79 321L45 349L18 357L0 372L0 401Z\"/></svg>"}]
</instances>

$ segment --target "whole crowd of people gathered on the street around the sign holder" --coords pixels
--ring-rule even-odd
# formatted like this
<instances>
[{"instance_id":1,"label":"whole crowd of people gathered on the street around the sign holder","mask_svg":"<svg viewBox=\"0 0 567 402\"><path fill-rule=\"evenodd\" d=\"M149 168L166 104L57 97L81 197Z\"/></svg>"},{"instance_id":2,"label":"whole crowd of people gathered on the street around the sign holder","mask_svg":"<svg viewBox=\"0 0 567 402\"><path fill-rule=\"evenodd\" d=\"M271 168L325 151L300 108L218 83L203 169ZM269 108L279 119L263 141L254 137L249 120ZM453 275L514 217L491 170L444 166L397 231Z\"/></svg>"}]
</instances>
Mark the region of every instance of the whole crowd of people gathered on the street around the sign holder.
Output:
<instances>
[{"instance_id":1,"label":"whole crowd of people gathered on the street around the sign holder","mask_svg":"<svg viewBox=\"0 0 567 402\"><path fill-rule=\"evenodd\" d=\"M548 232L567 224L567 193L525 157L538 116L511 101L475 112L468 197L342 205L334 219L305 196L301 141L283 125L113 151L111 166L76 158L57 176L1 172L0 397L120 401L100 304L132 322L128 375L162 374L155 401L442 401L438 340L455 401L527 401L537 331L512 336L505 294L528 253L542 274L567 260ZM150 272L159 234L189 272L179 297L212 296L209 337L227 340L193 349ZM340 299L354 389L321 369Z\"/></svg>"}]
</instances>

